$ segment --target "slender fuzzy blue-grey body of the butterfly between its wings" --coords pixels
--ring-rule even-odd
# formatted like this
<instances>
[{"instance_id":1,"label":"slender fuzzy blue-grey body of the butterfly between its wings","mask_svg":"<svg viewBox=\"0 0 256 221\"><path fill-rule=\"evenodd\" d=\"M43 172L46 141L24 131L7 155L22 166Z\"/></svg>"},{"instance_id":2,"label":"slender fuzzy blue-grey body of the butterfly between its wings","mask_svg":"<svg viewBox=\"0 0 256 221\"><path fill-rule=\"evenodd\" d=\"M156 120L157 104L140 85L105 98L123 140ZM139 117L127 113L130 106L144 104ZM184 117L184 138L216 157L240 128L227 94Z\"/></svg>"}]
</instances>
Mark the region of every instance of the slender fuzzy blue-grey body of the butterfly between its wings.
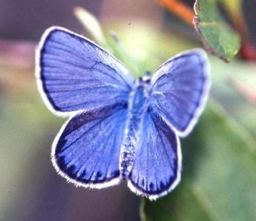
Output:
<instances>
[{"instance_id":1,"label":"slender fuzzy blue-grey body of the butterfly between its wings","mask_svg":"<svg viewBox=\"0 0 256 221\"><path fill-rule=\"evenodd\" d=\"M148 110L150 79L140 78L135 89L130 93L128 102L128 120L124 131L124 142L120 155L120 172L127 178L132 170L136 146L139 142L143 118Z\"/></svg>"}]
</instances>

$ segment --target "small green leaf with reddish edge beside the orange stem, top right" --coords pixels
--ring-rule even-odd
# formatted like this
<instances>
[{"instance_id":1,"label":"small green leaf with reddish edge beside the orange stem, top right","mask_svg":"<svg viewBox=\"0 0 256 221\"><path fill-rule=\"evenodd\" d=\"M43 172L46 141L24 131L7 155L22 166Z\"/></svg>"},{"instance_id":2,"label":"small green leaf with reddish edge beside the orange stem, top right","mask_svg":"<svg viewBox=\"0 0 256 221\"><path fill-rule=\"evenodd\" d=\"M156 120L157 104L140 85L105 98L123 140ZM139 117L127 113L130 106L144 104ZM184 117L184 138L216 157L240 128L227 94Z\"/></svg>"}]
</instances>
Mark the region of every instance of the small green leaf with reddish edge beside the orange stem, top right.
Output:
<instances>
[{"instance_id":1,"label":"small green leaf with reddish edge beside the orange stem, top right","mask_svg":"<svg viewBox=\"0 0 256 221\"><path fill-rule=\"evenodd\" d=\"M225 62L238 53L239 35L229 26L214 0L196 0L194 26L208 52Z\"/></svg>"}]
</instances>

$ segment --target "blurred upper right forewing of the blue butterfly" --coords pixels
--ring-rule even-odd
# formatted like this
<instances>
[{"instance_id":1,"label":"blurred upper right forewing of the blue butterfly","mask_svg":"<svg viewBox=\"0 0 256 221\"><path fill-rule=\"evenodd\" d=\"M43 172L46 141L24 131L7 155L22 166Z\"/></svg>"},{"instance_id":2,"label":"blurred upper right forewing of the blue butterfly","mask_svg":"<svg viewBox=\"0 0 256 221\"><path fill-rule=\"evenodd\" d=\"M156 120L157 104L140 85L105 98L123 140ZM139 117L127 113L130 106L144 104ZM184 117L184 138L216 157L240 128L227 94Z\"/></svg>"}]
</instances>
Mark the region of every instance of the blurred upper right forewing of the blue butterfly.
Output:
<instances>
[{"instance_id":1,"label":"blurred upper right forewing of the blue butterfly","mask_svg":"<svg viewBox=\"0 0 256 221\"><path fill-rule=\"evenodd\" d=\"M180 53L152 77L152 108L186 136L196 124L209 91L209 65L203 50Z\"/></svg>"}]
</instances>

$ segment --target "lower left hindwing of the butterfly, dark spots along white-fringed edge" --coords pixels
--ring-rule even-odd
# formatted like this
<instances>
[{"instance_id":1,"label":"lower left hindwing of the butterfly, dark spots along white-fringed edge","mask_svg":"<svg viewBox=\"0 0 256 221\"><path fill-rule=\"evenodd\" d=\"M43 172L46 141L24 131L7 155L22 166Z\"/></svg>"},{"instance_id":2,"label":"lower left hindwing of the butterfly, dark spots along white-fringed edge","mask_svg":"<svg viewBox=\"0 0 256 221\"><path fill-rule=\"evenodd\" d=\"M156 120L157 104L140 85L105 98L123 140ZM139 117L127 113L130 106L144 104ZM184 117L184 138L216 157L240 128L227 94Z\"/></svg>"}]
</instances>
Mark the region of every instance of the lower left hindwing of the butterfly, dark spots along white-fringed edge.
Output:
<instances>
[{"instance_id":1,"label":"lower left hindwing of the butterfly, dark spots along white-fringed edge","mask_svg":"<svg viewBox=\"0 0 256 221\"><path fill-rule=\"evenodd\" d=\"M71 117L52 145L52 163L58 173L77 186L118 184L126 117L127 108L122 105Z\"/></svg>"}]
</instances>

